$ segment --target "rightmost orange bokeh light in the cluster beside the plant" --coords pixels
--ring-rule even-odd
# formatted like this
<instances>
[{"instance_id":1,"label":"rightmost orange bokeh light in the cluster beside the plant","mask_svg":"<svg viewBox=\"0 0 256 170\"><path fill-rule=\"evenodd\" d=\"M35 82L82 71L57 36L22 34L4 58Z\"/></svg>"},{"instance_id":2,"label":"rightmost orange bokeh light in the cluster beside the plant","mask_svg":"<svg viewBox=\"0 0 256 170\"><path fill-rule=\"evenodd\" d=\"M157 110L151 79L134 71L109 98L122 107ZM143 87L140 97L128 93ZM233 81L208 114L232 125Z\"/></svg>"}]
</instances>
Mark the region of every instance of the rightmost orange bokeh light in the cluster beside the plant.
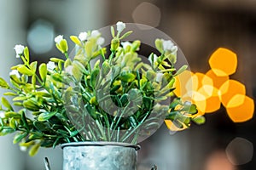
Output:
<instances>
[{"instance_id":1,"label":"rightmost orange bokeh light in the cluster beside the plant","mask_svg":"<svg viewBox=\"0 0 256 170\"><path fill-rule=\"evenodd\" d=\"M241 105L236 107L227 107L226 109L233 122L246 122L253 117L254 101L253 99L245 96Z\"/></svg>"}]
</instances>

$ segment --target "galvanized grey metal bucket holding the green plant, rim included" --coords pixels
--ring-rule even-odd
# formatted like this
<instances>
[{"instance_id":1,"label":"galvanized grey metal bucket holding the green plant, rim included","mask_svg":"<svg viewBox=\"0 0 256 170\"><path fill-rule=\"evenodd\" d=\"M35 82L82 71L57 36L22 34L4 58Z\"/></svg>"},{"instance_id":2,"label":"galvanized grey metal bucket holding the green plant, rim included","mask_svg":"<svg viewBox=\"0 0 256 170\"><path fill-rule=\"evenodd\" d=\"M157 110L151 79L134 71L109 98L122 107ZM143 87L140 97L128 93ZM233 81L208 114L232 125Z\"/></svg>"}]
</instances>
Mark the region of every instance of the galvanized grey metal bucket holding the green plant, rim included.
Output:
<instances>
[{"instance_id":1,"label":"galvanized grey metal bucket holding the green plant, rim included","mask_svg":"<svg viewBox=\"0 0 256 170\"><path fill-rule=\"evenodd\" d=\"M136 170L139 145L118 142L61 144L63 170Z\"/></svg>"}]
</instances>

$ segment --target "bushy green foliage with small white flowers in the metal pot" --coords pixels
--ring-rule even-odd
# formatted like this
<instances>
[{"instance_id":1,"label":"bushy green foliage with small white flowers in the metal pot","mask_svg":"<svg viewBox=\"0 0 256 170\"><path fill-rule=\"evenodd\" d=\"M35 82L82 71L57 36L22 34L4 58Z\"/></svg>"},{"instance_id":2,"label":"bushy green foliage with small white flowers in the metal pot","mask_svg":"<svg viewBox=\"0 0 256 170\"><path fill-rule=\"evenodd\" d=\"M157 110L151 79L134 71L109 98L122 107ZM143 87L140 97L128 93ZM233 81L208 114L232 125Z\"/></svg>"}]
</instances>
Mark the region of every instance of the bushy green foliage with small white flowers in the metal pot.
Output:
<instances>
[{"instance_id":1,"label":"bushy green foliage with small white flowers in the metal pot","mask_svg":"<svg viewBox=\"0 0 256 170\"><path fill-rule=\"evenodd\" d=\"M182 129L191 122L201 124L196 106L173 94L175 78L186 70L175 68L177 46L156 39L158 54L148 61L137 54L140 41L124 42L132 32L118 22L111 27L110 47L102 47L99 31L71 36L74 57L67 40L55 37L65 56L38 65L30 61L29 49L16 45L16 57L23 64L9 73L10 84L0 78L4 95L0 107L0 135L15 133L14 144L28 149L31 156L39 147L79 141L116 141L136 144L154 133L165 119ZM15 107L14 107L15 106Z\"/></svg>"}]
</instances>

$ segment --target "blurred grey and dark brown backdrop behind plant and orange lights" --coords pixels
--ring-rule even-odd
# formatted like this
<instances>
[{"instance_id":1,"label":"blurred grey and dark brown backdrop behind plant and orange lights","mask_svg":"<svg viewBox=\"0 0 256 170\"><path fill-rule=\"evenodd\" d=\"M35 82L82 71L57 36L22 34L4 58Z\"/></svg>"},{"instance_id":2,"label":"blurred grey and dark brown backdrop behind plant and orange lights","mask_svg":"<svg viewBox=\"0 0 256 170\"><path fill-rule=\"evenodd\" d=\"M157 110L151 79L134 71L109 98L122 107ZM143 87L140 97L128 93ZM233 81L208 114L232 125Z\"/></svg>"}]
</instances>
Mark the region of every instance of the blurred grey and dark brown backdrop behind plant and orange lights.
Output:
<instances>
[{"instance_id":1,"label":"blurred grey and dark brown backdrop behind plant and orange lights","mask_svg":"<svg viewBox=\"0 0 256 170\"><path fill-rule=\"evenodd\" d=\"M47 62L60 55L54 37L78 35L117 21L153 26L177 42L191 71L209 70L208 59L219 47L238 57L237 79L256 95L256 1L255 0L1 0L0 76L9 77L15 58L15 44L27 45L32 60ZM156 164L160 170L252 170L256 168L255 118L233 123L224 108L206 115L207 123L180 133L165 126L141 143L138 170ZM12 137L0 138L0 169L44 169L44 156L53 170L61 169L60 148L41 149L30 157L12 144ZM232 153L236 161L230 161ZM220 167L218 167L220 166Z\"/></svg>"}]
</instances>

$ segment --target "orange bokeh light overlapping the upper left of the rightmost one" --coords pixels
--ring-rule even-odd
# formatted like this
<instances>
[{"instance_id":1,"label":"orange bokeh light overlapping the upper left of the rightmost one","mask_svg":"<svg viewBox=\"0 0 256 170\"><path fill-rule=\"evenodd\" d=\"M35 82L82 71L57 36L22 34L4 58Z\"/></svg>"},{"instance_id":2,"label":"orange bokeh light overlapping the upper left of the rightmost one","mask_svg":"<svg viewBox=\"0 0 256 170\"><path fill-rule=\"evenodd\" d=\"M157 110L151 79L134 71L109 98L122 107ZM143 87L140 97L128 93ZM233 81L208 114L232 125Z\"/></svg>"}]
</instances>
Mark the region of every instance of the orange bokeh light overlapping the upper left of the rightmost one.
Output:
<instances>
[{"instance_id":1,"label":"orange bokeh light overlapping the upper left of the rightmost one","mask_svg":"<svg viewBox=\"0 0 256 170\"><path fill-rule=\"evenodd\" d=\"M246 88L241 82L236 80L228 80L219 88L219 97L221 103L226 107L231 98L236 94L246 94Z\"/></svg>"}]
</instances>

